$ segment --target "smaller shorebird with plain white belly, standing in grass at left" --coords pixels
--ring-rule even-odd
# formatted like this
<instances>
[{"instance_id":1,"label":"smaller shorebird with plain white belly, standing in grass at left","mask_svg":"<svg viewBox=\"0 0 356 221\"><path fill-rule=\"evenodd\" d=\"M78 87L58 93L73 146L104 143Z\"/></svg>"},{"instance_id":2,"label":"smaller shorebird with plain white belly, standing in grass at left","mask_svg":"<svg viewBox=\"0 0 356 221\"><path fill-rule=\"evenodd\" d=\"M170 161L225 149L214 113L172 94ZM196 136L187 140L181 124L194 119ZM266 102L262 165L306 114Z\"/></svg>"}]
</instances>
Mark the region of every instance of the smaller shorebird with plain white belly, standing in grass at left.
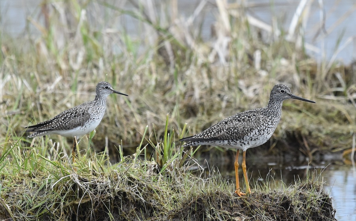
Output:
<instances>
[{"instance_id":1,"label":"smaller shorebird with plain white belly, standing in grass at left","mask_svg":"<svg viewBox=\"0 0 356 221\"><path fill-rule=\"evenodd\" d=\"M77 137L90 133L99 125L105 114L106 98L112 93L128 96L112 89L112 86L108 82L101 81L96 85L96 94L93 101L63 111L51 120L26 127L26 132L34 132L28 137L49 134L74 137L72 149L74 161Z\"/></svg>"}]
</instances>

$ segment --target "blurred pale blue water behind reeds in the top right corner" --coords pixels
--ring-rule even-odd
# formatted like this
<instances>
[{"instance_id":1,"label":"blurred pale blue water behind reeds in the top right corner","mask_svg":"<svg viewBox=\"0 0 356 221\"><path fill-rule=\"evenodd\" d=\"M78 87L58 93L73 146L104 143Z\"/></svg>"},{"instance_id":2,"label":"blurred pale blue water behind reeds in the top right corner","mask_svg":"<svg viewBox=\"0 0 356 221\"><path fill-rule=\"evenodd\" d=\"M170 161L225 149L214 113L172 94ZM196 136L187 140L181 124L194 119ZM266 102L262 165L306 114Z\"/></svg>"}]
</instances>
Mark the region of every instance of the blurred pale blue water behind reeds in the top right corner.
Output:
<instances>
[{"instance_id":1,"label":"blurred pale blue water behind reeds in the top right corner","mask_svg":"<svg viewBox=\"0 0 356 221\"><path fill-rule=\"evenodd\" d=\"M271 15L273 14L277 21L284 21L282 22L282 27L284 30L288 30L300 1L257 0L254 2L257 6L249 10L253 16L271 24ZM270 2L274 3L271 4ZM320 52L316 53L310 50L307 50L307 52L318 59L321 59L325 53L326 59L329 60L333 56L335 49L343 47L342 51L338 53L337 59L345 63L350 63L356 57L356 41L354 40L356 31L352 25L356 20L356 8L352 8L356 6L355 1L335 0L322 2L324 12L320 9L319 1L313 1L304 31L305 42L320 48ZM345 19L342 19L348 12L349 14L345 16ZM324 28L320 28L323 23L323 19L321 18L323 13L325 16ZM340 37L342 37L340 47L336 47L337 40Z\"/></svg>"}]
</instances>

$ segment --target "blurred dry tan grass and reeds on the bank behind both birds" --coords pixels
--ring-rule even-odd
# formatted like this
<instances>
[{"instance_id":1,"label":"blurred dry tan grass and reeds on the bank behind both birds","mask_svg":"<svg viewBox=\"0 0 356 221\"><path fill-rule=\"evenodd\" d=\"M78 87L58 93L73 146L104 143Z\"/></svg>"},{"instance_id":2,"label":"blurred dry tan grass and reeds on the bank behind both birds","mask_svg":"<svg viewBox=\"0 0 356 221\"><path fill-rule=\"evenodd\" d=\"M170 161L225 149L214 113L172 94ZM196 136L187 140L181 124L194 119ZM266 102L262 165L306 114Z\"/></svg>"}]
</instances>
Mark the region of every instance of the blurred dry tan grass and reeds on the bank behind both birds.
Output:
<instances>
[{"instance_id":1,"label":"blurred dry tan grass and reeds on the bank behind both birds","mask_svg":"<svg viewBox=\"0 0 356 221\"><path fill-rule=\"evenodd\" d=\"M2 142L6 131L20 136L23 126L93 99L96 83L107 80L129 97L110 96L94 141L99 150L105 136L110 151L121 140L124 146L137 145L147 125L147 136L155 127L161 137L168 112L169 125L179 136L186 122L189 134L197 133L236 112L266 106L277 83L317 104L286 101L274 138L293 132L319 150L351 146L356 79L349 68L333 63L324 73L284 36L261 41L260 33L275 33L253 26L256 21L234 5L216 5L220 17L212 42L205 42L200 32L194 32L192 20L199 19L170 14L173 3L162 6L167 11L161 15L155 8L150 14L147 2L136 4L123 10L100 1L53 2L43 5L48 27L30 20L41 31L39 37L2 35ZM199 7L196 13L201 13ZM109 20L112 16L116 19ZM62 17L68 22L63 23ZM126 30L121 20L127 17L136 19L133 24L142 27L138 31L142 36L112 28ZM166 20L158 20L163 17Z\"/></svg>"}]
</instances>

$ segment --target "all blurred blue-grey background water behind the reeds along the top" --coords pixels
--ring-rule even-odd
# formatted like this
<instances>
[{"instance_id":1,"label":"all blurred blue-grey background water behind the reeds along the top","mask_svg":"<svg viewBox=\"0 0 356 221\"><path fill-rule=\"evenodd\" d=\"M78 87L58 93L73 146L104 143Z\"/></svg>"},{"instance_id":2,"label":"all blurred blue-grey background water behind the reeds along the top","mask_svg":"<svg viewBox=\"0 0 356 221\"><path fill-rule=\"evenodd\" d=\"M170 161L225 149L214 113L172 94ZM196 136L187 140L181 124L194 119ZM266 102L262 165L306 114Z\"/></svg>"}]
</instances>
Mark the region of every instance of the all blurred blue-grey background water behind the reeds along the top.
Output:
<instances>
[{"instance_id":1,"label":"all blurred blue-grey background water behind the reeds along the top","mask_svg":"<svg viewBox=\"0 0 356 221\"><path fill-rule=\"evenodd\" d=\"M20 35L26 28L27 16L32 17L35 21L43 23L43 16L39 16L40 7L38 6L42 2L41 0L1 0L0 1L0 27L2 31L11 33L12 35ZM108 1L112 4L114 1ZM156 3L156 7L159 13L159 2ZM199 5L198 0L178 1L178 16L189 17ZM231 1L235 2L235 1ZM240 1L237 1L240 2ZM298 7L299 0L254 0L245 1L248 14L257 19L271 25L273 20L277 21L278 26L282 26L284 30L288 30L290 22L294 15L295 10ZM273 2L273 3L271 3ZM356 30L354 28L354 21L356 21L356 3L354 0L335 0L335 1L323 1L324 11L321 10L319 5L320 1L312 1L310 8L309 18L304 30L305 42L320 48L319 52L308 51L308 53L318 59L323 58L326 55L326 60L330 60L333 56L336 48L342 48L337 53L336 58L342 60L345 63L350 63L356 57L356 40L354 36ZM117 2L116 2L117 3ZM97 7L97 5L95 6ZM131 6L132 7L132 6ZM125 8L130 8L127 4ZM215 15L218 9L214 0L209 0L205 4L200 17L195 20L195 24L202 21L201 33L205 40L211 37L211 26L215 22ZM323 23L321 17L324 13L325 23L324 28L320 29ZM273 15L273 16L272 16ZM345 16L345 18L343 18ZM95 19L90 17L89 20L95 22ZM116 24L118 29L125 27L126 31L132 35L140 35L137 30L140 30L140 26L137 25L137 21L133 20L130 16L124 15L123 22ZM136 22L136 23L135 23ZM194 23L193 23L194 24ZM114 27L115 28L115 27ZM197 27L200 28L200 27ZM38 33L38 30L31 25L28 25L28 31ZM318 34L319 33L319 34ZM336 47L338 39L340 40L340 46ZM356 39L356 38L355 38Z\"/></svg>"}]
</instances>

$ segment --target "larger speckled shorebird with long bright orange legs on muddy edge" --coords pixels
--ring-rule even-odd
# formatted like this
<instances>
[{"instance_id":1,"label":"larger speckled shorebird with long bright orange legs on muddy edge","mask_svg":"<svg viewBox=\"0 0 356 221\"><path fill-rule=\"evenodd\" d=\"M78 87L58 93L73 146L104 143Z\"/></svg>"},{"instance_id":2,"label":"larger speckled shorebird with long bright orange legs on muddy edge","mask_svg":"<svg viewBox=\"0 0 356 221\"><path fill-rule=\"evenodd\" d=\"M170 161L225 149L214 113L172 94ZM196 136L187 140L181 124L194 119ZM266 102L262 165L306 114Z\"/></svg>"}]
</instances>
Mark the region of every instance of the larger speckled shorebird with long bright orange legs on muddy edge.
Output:
<instances>
[{"instance_id":1,"label":"larger speckled shorebird with long bright orange legs on muddy edge","mask_svg":"<svg viewBox=\"0 0 356 221\"><path fill-rule=\"evenodd\" d=\"M197 135L185 137L179 141L187 142L184 147L208 145L237 149L234 165L236 177L235 193L238 196L245 195L241 191L239 184L238 159L241 149L243 151L242 172L244 173L246 191L251 193L246 173L246 150L258 147L268 141L281 119L282 103L289 98L315 103L293 95L286 85L277 84L272 88L267 107L235 114Z\"/></svg>"}]
</instances>

